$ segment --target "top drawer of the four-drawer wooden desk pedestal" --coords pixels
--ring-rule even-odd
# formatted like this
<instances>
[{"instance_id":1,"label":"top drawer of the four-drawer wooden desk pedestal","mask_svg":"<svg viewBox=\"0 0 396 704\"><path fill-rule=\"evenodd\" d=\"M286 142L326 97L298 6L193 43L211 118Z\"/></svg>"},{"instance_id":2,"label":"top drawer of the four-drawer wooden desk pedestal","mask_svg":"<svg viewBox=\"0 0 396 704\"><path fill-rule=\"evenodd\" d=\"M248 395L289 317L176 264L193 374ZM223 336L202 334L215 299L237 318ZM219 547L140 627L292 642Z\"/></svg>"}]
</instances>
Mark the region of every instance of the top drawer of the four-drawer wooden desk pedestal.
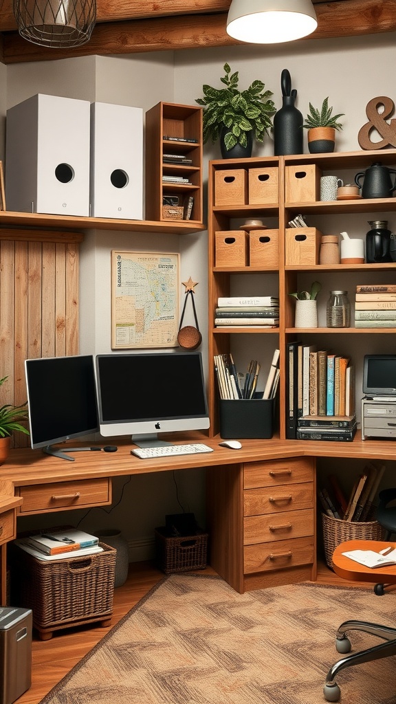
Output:
<instances>
[{"instance_id":1,"label":"top drawer of the four-drawer wooden desk pedestal","mask_svg":"<svg viewBox=\"0 0 396 704\"><path fill-rule=\"evenodd\" d=\"M287 460L253 462L244 466L244 489L277 484L295 484L314 480L314 460L309 457L292 457Z\"/></svg>"}]
</instances>

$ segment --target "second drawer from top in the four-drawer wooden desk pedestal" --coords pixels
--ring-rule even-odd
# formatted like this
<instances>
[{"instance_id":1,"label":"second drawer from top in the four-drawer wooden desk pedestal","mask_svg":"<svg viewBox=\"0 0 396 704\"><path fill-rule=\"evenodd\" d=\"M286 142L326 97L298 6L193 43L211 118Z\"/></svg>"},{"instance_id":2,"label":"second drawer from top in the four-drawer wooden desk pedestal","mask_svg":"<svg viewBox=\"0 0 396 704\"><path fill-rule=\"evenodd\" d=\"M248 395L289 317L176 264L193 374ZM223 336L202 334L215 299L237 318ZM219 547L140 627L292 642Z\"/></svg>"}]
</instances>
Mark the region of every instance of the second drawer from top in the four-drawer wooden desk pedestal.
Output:
<instances>
[{"instance_id":1,"label":"second drawer from top in the four-drawer wooden desk pedestal","mask_svg":"<svg viewBox=\"0 0 396 704\"><path fill-rule=\"evenodd\" d=\"M314 483L289 484L264 487L264 489L246 489L243 492L245 516L261 513L279 513L314 507Z\"/></svg>"}]
</instances>

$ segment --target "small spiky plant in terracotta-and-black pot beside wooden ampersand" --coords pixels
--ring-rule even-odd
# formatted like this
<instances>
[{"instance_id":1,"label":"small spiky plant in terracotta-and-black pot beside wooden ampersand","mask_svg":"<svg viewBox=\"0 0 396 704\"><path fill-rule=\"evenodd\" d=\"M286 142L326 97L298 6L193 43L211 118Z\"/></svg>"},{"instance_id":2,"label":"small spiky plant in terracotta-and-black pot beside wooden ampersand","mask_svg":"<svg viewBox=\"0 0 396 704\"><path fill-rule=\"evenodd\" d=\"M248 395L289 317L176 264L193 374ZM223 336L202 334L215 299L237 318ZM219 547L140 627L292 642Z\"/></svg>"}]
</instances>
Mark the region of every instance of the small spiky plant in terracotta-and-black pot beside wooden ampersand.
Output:
<instances>
[{"instance_id":1,"label":"small spiky plant in terracotta-and-black pot beside wooden ampersand","mask_svg":"<svg viewBox=\"0 0 396 704\"><path fill-rule=\"evenodd\" d=\"M345 113L331 113L333 108L328 106L328 97L323 100L320 109L309 103L309 113L302 126L308 130L308 149L311 154L334 151L335 130L342 130L342 123L338 120Z\"/></svg>"}]
</instances>

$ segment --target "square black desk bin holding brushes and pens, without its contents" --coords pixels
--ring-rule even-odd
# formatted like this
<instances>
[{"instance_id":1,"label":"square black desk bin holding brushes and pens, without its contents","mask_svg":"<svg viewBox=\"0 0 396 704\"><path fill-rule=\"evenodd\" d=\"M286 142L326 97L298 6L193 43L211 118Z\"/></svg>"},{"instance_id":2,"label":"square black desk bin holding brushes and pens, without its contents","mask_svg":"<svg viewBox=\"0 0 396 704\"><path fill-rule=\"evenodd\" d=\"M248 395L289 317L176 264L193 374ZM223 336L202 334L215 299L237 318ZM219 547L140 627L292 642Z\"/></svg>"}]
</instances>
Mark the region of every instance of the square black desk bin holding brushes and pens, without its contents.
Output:
<instances>
[{"instance_id":1,"label":"square black desk bin holding brushes and pens, without its contents","mask_svg":"<svg viewBox=\"0 0 396 704\"><path fill-rule=\"evenodd\" d=\"M220 434L227 439L270 439L273 436L274 398L220 400Z\"/></svg>"}]
</instances>

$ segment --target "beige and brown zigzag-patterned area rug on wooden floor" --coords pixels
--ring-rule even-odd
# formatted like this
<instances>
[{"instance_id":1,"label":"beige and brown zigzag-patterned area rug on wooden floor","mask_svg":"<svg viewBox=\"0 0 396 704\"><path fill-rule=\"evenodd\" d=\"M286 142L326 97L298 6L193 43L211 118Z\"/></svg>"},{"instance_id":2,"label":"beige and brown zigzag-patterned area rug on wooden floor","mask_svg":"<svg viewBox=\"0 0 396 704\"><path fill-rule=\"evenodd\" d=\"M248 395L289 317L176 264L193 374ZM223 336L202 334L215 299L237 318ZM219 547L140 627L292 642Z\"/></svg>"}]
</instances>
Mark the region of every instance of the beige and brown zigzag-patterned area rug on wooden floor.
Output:
<instances>
[{"instance_id":1,"label":"beige and brown zigzag-patterned area rug on wooden floor","mask_svg":"<svg viewBox=\"0 0 396 704\"><path fill-rule=\"evenodd\" d=\"M219 577L163 579L42 704L320 704L349 618L391 625L395 593L297 584L238 594ZM380 643L351 634L358 650ZM396 658L343 670L343 704L395 704Z\"/></svg>"}]
</instances>

